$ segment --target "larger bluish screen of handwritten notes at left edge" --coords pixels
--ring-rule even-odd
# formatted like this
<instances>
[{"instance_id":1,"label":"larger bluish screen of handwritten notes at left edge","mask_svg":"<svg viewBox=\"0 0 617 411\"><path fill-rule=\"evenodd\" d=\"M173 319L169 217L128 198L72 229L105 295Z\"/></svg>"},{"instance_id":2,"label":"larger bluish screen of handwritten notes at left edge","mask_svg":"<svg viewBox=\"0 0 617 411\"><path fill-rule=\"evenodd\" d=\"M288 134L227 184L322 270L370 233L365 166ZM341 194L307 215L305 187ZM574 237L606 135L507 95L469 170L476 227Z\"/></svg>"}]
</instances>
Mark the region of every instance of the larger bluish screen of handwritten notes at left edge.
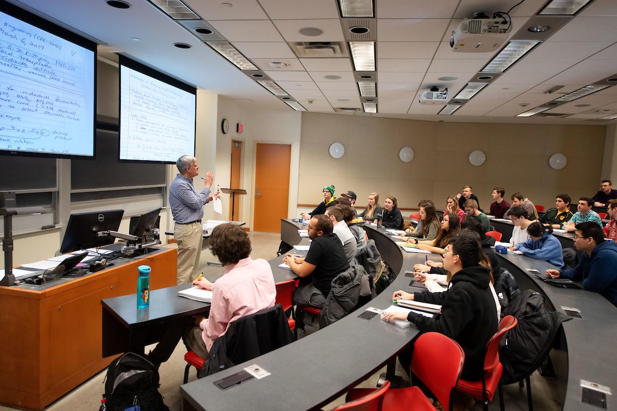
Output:
<instances>
[{"instance_id":1,"label":"larger bluish screen of handwritten notes at left edge","mask_svg":"<svg viewBox=\"0 0 617 411\"><path fill-rule=\"evenodd\" d=\"M94 155L94 51L3 12L0 150Z\"/></svg>"}]
</instances>

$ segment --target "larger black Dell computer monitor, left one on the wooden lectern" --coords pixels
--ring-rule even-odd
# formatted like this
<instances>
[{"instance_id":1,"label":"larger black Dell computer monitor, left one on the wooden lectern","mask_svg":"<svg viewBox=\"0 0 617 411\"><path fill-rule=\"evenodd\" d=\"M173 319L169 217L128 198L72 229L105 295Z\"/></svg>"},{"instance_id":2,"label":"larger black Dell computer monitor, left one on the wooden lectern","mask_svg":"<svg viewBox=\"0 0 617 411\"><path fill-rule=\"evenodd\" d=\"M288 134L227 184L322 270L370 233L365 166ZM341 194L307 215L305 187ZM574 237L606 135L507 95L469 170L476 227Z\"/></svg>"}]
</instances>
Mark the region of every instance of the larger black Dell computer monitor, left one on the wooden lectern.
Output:
<instances>
[{"instance_id":1,"label":"larger black Dell computer monitor, left one on the wooden lectern","mask_svg":"<svg viewBox=\"0 0 617 411\"><path fill-rule=\"evenodd\" d=\"M115 238L111 235L98 237L96 234L99 231L117 231L120 228L123 214L124 210L71 214L60 246L60 253L71 253L113 244Z\"/></svg>"}]
</instances>

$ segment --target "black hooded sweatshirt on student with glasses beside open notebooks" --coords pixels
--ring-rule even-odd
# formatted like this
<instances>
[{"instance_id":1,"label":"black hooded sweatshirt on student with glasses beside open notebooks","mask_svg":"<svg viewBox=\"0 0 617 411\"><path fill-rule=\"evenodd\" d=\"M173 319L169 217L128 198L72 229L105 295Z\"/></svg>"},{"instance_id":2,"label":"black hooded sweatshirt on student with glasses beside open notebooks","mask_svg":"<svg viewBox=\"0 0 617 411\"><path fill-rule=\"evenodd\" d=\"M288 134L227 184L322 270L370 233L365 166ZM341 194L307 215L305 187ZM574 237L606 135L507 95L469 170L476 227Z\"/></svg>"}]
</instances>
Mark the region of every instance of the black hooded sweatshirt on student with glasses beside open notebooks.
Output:
<instances>
[{"instance_id":1,"label":"black hooded sweatshirt on student with glasses beside open notebooks","mask_svg":"<svg viewBox=\"0 0 617 411\"><path fill-rule=\"evenodd\" d=\"M465 352L461 378L478 381L484 373L484 350L497 332L497 308L489 288L490 269L467 267L450 280L451 287L443 293L417 293L416 301L441 304L436 319L410 312L407 320L421 332L438 332L449 336Z\"/></svg>"}]
</instances>

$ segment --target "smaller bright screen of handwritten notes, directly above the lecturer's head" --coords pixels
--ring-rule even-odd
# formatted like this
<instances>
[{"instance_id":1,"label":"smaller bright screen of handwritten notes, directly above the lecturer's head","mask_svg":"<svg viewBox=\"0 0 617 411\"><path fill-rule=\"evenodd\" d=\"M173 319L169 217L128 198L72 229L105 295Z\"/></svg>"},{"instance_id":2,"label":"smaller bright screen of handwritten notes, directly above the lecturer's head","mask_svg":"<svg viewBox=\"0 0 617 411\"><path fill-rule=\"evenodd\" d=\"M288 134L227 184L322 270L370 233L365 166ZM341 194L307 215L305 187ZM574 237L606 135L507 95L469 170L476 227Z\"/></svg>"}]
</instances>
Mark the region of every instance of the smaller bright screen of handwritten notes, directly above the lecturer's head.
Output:
<instances>
[{"instance_id":1,"label":"smaller bright screen of handwritten notes, directly above the lecturer's head","mask_svg":"<svg viewBox=\"0 0 617 411\"><path fill-rule=\"evenodd\" d=\"M195 154L193 93L120 65L120 160Z\"/></svg>"}]
</instances>

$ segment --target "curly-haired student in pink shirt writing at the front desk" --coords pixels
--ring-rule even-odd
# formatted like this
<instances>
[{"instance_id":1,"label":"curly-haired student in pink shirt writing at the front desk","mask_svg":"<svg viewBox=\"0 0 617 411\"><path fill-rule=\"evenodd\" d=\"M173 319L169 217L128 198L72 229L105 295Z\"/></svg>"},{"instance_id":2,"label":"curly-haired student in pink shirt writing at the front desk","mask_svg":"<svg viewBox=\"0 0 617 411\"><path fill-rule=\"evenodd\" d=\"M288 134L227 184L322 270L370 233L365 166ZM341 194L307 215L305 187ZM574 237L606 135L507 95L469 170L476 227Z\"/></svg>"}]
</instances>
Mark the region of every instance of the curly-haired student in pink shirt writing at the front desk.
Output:
<instances>
[{"instance_id":1,"label":"curly-haired student in pink shirt writing at the front desk","mask_svg":"<svg viewBox=\"0 0 617 411\"><path fill-rule=\"evenodd\" d=\"M169 359L180 338L187 349L209 359L214 340L225 334L231 322L275 304L270 264L263 259L251 259L251 240L240 226L227 223L215 227L210 246L212 254L225 266L225 275L213 283L203 277L193 282L196 287L212 290L209 317L191 315L174 320L148 354L155 364Z\"/></svg>"}]
</instances>

